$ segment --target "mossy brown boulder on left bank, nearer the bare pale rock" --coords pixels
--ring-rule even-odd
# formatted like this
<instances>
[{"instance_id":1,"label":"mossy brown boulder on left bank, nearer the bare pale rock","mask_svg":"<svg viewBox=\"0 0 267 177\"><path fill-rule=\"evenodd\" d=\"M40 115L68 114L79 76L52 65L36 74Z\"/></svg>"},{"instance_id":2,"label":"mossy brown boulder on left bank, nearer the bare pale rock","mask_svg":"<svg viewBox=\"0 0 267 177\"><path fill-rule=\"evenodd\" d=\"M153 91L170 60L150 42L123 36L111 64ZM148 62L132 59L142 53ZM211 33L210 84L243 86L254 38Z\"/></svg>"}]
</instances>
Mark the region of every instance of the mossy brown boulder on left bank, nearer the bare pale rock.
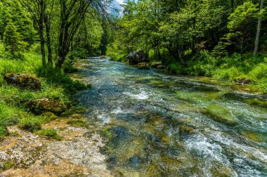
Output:
<instances>
[{"instance_id":1,"label":"mossy brown boulder on left bank, nearer the bare pale rock","mask_svg":"<svg viewBox=\"0 0 267 177\"><path fill-rule=\"evenodd\" d=\"M67 110L67 106L64 103L60 103L60 100L53 100L49 98L29 100L25 103L25 105L31 112L34 112L34 114L52 112L60 115Z\"/></svg>"}]
</instances>

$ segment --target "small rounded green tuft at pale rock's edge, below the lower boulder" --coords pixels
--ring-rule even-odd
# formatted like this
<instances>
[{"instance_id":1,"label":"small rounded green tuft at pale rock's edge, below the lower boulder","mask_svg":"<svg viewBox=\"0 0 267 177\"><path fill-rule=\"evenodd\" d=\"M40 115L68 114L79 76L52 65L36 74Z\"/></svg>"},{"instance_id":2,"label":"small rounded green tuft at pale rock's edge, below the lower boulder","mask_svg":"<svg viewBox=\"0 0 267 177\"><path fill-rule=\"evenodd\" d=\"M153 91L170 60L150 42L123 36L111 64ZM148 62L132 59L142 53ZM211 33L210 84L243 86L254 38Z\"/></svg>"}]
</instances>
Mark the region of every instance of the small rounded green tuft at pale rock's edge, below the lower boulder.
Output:
<instances>
[{"instance_id":1,"label":"small rounded green tuft at pale rock's edge, below the lower boulder","mask_svg":"<svg viewBox=\"0 0 267 177\"><path fill-rule=\"evenodd\" d=\"M41 129L41 122L37 117L26 117L20 119L18 126L20 129L34 132Z\"/></svg>"}]
</instances>

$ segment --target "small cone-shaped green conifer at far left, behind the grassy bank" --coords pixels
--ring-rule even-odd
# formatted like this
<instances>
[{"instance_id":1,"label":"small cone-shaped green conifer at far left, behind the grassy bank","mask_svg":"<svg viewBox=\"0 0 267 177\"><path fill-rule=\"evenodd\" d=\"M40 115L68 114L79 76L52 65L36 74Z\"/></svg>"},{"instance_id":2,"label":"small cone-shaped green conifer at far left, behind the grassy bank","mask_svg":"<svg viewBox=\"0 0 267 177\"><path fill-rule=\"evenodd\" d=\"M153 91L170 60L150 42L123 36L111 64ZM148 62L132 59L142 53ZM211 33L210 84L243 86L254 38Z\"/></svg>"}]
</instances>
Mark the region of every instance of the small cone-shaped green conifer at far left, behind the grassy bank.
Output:
<instances>
[{"instance_id":1,"label":"small cone-shaped green conifer at far left, behind the grassy bank","mask_svg":"<svg viewBox=\"0 0 267 177\"><path fill-rule=\"evenodd\" d=\"M18 33L18 28L13 24L13 22L8 22L6 30L4 32L4 42L6 48L11 51L11 55L15 54L22 47L21 36Z\"/></svg>"}]
</instances>

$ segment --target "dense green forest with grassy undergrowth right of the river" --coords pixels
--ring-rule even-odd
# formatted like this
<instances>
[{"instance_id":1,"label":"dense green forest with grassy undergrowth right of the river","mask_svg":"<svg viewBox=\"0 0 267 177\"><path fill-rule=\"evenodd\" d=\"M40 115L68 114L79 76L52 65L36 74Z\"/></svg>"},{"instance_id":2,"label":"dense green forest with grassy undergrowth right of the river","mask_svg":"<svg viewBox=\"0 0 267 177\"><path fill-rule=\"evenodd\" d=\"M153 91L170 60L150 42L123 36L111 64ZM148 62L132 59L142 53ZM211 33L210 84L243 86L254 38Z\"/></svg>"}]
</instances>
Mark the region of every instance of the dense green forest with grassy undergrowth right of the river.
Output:
<instances>
[{"instance_id":1,"label":"dense green forest with grassy undergrowth right of the river","mask_svg":"<svg viewBox=\"0 0 267 177\"><path fill-rule=\"evenodd\" d=\"M264 1L127 1L108 55L143 49L178 74L259 82L266 92Z\"/></svg>"}]
</instances>

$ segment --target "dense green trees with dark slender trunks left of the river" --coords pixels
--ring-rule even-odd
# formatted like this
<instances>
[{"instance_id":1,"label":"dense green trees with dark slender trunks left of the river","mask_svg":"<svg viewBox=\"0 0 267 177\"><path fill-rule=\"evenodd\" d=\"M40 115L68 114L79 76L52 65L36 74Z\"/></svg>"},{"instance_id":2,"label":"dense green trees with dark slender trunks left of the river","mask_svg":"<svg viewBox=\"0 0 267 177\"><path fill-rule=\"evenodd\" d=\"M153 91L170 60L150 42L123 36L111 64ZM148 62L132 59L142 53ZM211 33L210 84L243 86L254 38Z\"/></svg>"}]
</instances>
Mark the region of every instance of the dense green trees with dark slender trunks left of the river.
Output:
<instances>
[{"instance_id":1,"label":"dense green trees with dark slender trunks left of the river","mask_svg":"<svg viewBox=\"0 0 267 177\"><path fill-rule=\"evenodd\" d=\"M42 65L62 67L79 53L101 53L108 1L1 1L1 55L41 53ZM67 56L68 55L68 56Z\"/></svg>"}]
</instances>

